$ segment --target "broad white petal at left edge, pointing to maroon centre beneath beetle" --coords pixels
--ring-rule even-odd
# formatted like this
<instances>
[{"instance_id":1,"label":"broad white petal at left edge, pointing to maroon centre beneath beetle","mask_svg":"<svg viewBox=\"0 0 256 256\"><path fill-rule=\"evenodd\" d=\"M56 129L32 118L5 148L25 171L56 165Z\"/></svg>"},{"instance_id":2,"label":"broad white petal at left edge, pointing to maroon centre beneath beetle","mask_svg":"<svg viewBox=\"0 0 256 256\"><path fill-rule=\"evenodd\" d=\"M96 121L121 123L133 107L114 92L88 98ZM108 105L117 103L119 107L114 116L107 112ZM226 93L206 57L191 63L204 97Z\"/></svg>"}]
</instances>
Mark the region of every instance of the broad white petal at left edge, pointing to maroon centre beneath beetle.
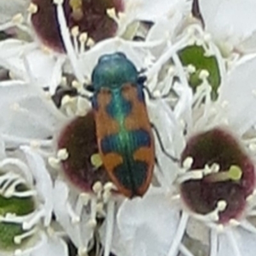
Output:
<instances>
[{"instance_id":1,"label":"broad white petal at left edge, pointing to maroon centre beneath beetle","mask_svg":"<svg viewBox=\"0 0 256 256\"><path fill-rule=\"evenodd\" d=\"M20 81L0 83L0 109L6 147L51 138L64 120L40 88Z\"/></svg>"}]
</instances>

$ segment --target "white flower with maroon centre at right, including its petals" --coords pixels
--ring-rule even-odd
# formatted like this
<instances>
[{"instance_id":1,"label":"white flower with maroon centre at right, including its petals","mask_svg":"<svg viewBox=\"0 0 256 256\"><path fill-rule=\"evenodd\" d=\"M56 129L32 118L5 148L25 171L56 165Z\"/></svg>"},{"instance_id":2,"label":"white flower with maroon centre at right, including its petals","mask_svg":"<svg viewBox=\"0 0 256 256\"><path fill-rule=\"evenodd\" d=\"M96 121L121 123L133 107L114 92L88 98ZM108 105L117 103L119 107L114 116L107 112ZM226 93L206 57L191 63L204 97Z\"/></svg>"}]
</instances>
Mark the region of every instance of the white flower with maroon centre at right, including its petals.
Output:
<instances>
[{"instance_id":1,"label":"white flower with maroon centre at right, including its petals","mask_svg":"<svg viewBox=\"0 0 256 256\"><path fill-rule=\"evenodd\" d=\"M208 90L204 97L195 95L193 103L184 106L192 108L191 119L177 115L187 124L186 148L179 151L175 150L177 144L173 145L182 166L164 166L166 172L178 173L177 179L159 179L162 188L150 188L142 199L125 200L119 209L116 227L128 255L191 255L184 247L188 237L192 243L200 241L209 246L211 256L254 255L255 60L252 55L236 63L220 86L215 103ZM168 115L175 120L172 112ZM207 139L205 134L215 135ZM216 159L211 158L214 156ZM197 165L200 161L206 164ZM227 166L221 169L224 163ZM191 250L197 255L200 246Z\"/></svg>"}]
</instances>

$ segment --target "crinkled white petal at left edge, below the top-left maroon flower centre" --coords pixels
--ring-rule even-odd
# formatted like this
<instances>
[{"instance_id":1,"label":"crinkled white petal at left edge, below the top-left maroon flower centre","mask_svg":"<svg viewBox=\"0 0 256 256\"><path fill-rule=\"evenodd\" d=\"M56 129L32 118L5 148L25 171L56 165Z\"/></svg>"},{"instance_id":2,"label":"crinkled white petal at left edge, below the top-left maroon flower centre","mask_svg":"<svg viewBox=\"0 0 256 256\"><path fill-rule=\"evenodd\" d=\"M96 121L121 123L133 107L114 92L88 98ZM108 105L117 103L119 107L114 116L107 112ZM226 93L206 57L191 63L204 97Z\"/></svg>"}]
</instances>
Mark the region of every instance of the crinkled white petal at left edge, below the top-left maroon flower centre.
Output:
<instances>
[{"instance_id":1,"label":"crinkled white petal at left edge, below the top-left maroon flower centre","mask_svg":"<svg viewBox=\"0 0 256 256\"><path fill-rule=\"evenodd\" d=\"M60 84L61 67L65 56L53 56L38 48L35 43L8 39L0 42L0 64L12 72L12 76L29 81L39 87L51 86L52 91Z\"/></svg>"}]
</instances>

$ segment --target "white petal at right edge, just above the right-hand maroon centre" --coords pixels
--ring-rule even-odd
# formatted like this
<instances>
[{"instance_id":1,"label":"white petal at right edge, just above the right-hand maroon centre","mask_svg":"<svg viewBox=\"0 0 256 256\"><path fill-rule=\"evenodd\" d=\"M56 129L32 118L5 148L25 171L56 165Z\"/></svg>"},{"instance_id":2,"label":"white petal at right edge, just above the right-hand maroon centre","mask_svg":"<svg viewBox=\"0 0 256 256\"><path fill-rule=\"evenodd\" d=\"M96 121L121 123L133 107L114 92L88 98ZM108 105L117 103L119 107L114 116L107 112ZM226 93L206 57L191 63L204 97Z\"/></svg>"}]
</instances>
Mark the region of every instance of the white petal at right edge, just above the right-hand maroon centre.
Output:
<instances>
[{"instance_id":1,"label":"white petal at right edge, just above the right-hand maroon centre","mask_svg":"<svg viewBox=\"0 0 256 256\"><path fill-rule=\"evenodd\" d=\"M220 87L220 104L225 104L232 129L243 134L256 122L256 56L246 56L230 70Z\"/></svg>"}]
</instances>

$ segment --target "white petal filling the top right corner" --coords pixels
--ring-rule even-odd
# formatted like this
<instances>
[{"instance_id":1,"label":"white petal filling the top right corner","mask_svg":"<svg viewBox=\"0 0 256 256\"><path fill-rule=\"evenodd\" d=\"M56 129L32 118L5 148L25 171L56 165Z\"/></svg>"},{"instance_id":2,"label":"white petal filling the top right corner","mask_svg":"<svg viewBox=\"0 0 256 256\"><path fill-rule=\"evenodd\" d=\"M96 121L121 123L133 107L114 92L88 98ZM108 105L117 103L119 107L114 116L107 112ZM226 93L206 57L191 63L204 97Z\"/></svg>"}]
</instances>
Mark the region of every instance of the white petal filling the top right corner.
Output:
<instances>
[{"instance_id":1,"label":"white petal filling the top right corner","mask_svg":"<svg viewBox=\"0 0 256 256\"><path fill-rule=\"evenodd\" d=\"M238 45L256 31L254 0L199 0L205 28L219 42Z\"/></svg>"}]
</instances>

